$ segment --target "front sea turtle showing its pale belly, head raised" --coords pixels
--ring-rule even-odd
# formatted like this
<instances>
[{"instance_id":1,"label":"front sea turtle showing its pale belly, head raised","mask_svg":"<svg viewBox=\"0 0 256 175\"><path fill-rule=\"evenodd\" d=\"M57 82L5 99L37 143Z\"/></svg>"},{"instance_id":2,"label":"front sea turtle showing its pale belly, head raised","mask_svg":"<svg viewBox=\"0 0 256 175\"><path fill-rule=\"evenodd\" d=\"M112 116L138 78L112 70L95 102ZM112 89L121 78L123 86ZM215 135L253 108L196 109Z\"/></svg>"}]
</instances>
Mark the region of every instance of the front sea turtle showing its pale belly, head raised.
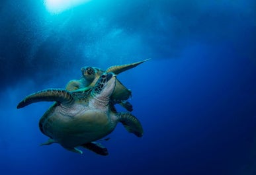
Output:
<instances>
[{"instance_id":1,"label":"front sea turtle showing its pale belly, head raised","mask_svg":"<svg viewBox=\"0 0 256 175\"><path fill-rule=\"evenodd\" d=\"M23 108L40 101L55 101L40 119L39 127L50 139L42 145L59 143L65 149L82 153L84 147L99 155L108 151L95 141L111 133L121 122L128 132L142 137L140 121L130 112L116 112L110 96L116 86L114 73L103 73L91 90L46 89L26 96L17 106Z\"/></svg>"}]
</instances>

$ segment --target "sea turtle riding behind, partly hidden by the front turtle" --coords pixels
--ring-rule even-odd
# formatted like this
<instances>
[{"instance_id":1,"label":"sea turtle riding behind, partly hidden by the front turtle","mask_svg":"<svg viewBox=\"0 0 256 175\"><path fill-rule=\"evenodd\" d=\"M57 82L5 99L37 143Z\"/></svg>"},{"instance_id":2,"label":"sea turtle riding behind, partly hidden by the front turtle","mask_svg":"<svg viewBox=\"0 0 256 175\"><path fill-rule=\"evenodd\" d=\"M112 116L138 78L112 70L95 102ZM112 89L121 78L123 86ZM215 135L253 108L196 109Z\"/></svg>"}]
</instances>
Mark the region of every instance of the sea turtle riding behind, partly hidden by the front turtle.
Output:
<instances>
[{"instance_id":1,"label":"sea turtle riding behind, partly hidden by the front turtle","mask_svg":"<svg viewBox=\"0 0 256 175\"><path fill-rule=\"evenodd\" d=\"M66 89L71 90L77 90L79 88L92 88L95 86L95 83L99 79L99 77L103 73L114 73L115 75L118 75L119 73L122 73L123 71L126 71L128 69L132 69L133 67L136 67L137 65L140 65L141 63L144 63L145 61L148 61L149 59L146 59L144 61L138 61L136 63L130 63L126 65L114 65L111 67L108 67L106 71L98 68L98 67L82 67L82 77L79 80L71 80L66 85ZM128 98L132 96L132 91L118 80L116 80L116 88L114 89L114 92L111 95L111 100L114 102L114 104L118 103L126 110L132 111L132 104L130 102L127 102Z\"/></svg>"}]
</instances>

